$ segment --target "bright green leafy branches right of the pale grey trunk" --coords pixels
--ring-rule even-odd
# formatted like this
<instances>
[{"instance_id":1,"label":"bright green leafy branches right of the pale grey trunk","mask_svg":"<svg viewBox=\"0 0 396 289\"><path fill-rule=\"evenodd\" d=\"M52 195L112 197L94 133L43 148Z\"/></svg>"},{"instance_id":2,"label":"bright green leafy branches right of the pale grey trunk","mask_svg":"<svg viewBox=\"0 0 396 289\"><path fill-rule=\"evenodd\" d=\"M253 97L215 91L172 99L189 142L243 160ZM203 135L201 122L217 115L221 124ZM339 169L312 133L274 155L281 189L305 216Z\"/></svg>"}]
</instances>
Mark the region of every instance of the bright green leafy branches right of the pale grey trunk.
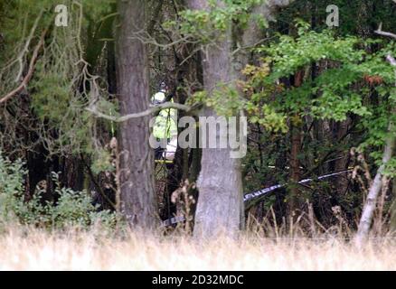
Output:
<instances>
[{"instance_id":1,"label":"bright green leafy branches right of the pale grey trunk","mask_svg":"<svg viewBox=\"0 0 396 289\"><path fill-rule=\"evenodd\" d=\"M376 86L377 89L389 88L386 85L393 81L392 70L383 61L384 51L367 55L359 46L372 43L370 40L362 42L355 37L337 38L329 30L316 33L310 31L306 23L297 23L297 27L296 38L281 35L278 42L257 49L263 55L263 65L269 63L271 67L268 76L250 67L244 71L249 77L245 83L245 90L250 91L248 107L250 112L256 112L251 118L253 122L261 119L261 107L266 109L264 115L268 116L263 124L268 129L275 128L275 131L280 123L284 123L279 123L279 119L296 114L336 121L343 121L350 113L371 117L371 110L364 105L369 90L363 79L374 76L383 82L383 85ZM299 87L285 88L278 84L280 79L323 61L331 61L332 68L322 71L315 79L305 77ZM358 83L361 85L355 89ZM276 114L278 117L275 117ZM271 126L270 121L277 125ZM285 131L284 128L282 126L281 131Z\"/></svg>"}]
</instances>

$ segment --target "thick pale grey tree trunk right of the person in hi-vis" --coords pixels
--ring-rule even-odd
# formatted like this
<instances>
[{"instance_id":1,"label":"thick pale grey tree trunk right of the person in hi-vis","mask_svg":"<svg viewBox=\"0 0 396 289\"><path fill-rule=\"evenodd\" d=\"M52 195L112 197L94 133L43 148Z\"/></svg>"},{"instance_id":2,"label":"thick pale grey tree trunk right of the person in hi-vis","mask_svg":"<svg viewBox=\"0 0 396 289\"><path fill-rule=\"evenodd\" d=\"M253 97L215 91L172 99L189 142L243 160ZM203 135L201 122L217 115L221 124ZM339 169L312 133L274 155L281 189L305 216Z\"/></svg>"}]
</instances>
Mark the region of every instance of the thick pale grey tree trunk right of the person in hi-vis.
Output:
<instances>
[{"instance_id":1,"label":"thick pale grey tree trunk right of the person in hi-vis","mask_svg":"<svg viewBox=\"0 0 396 289\"><path fill-rule=\"evenodd\" d=\"M267 20L278 5L288 5L290 1L269 1L256 7L264 14ZM203 11L206 14L218 15L222 22L217 23L221 29L212 34L212 41L203 44L203 87L209 98L215 98L221 94L222 101L228 102L226 94L230 91L224 89L224 84L229 89L235 89L235 80L240 76L240 70L235 70L235 64L243 68L249 61L248 54L240 53L239 57L233 58L232 49L232 26L231 17L227 18L229 3L217 1L216 5L210 5L203 0L190 0L189 8ZM232 8L241 14L250 11L251 4L232 4ZM216 17L214 17L216 19ZM253 18L253 17L252 17ZM254 46L259 41L259 27L250 21L250 28L241 43ZM216 25L215 25L216 26ZM248 26L249 27L249 26ZM242 51L246 49L242 48ZM228 92L227 92L228 91ZM204 107L201 116L218 117L213 107ZM239 111L233 111L233 116L239 117ZM222 135L217 127L216 139L219 144ZM240 172L240 159L231 158L231 148L203 148L201 172L198 178L199 199L195 214L194 234L203 238L211 238L223 229L231 236L235 236L244 226L242 177Z\"/></svg>"}]
</instances>

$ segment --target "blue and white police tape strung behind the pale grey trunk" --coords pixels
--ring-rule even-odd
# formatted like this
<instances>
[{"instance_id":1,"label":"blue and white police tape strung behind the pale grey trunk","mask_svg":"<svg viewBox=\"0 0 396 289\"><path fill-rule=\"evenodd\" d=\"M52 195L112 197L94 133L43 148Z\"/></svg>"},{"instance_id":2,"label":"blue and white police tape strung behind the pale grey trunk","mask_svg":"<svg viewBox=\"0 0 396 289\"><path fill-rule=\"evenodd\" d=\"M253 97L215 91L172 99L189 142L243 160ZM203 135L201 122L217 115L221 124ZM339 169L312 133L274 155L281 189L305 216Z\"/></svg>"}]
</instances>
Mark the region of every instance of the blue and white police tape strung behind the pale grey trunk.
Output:
<instances>
[{"instance_id":1,"label":"blue and white police tape strung behind the pale grey trunk","mask_svg":"<svg viewBox=\"0 0 396 289\"><path fill-rule=\"evenodd\" d=\"M327 178L330 178L330 177L334 177L334 176L337 176L337 175L340 175L340 174L343 174L343 173L346 173L346 172L352 172L352 171L353 170L351 169L351 170L345 170L345 171L341 171L341 172L333 172L333 173L329 173L329 174L324 174L324 175L318 176L317 178L304 179L304 180L298 182L298 184L304 184L304 183L307 183L307 182L320 181L320 180L323 180L323 179L327 179ZM245 194L243 196L243 201L248 201L248 200L252 200L252 199L256 199L256 198L268 195L269 192L276 191L278 189L284 188L287 185L288 185L288 183L276 184L276 185L270 186L268 188L265 188L265 189L262 189L262 190L259 190L259 191L253 191L253 192L247 193L247 194ZM184 222L184 221L185 221L185 217L184 216L175 216L175 217L173 217L171 219L165 219L162 222L161 227L172 226L174 224L181 223L181 222Z\"/></svg>"}]
</instances>

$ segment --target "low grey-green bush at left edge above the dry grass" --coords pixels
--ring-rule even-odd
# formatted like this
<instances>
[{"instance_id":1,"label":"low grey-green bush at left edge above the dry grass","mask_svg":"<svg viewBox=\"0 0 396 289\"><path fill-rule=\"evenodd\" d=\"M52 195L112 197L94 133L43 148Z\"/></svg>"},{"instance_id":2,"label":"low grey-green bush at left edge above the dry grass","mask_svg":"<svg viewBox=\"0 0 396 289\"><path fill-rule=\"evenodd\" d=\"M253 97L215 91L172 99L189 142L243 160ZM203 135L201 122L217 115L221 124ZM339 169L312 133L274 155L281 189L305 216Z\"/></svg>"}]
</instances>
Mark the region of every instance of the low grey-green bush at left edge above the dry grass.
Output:
<instances>
[{"instance_id":1,"label":"low grey-green bush at left edge above the dry grass","mask_svg":"<svg viewBox=\"0 0 396 289\"><path fill-rule=\"evenodd\" d=\"M116 216L108 210L98 211L86 191L61 188L58 175L53 173L55 204L42 201L43 191L37 189L33 199L24 199L24 163L14 163L0 154L0 221L15 219L42 228L90 228L100 223L104 228L114 228Z\"/></svg>"}]
</instances>

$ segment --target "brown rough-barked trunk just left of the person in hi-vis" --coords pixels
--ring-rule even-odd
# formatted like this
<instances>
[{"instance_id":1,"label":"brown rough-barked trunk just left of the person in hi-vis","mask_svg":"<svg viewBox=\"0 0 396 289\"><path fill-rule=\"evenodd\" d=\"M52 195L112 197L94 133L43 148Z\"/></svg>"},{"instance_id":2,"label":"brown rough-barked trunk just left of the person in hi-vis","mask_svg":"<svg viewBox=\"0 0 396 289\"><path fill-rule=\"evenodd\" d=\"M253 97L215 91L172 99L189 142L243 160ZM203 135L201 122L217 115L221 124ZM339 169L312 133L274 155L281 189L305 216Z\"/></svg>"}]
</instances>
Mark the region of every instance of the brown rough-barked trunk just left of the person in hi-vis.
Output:
<instances>
[{"instance_id":1,"label":"brown rough-barked trunk just left of the person in hi-vis","mask_svg":"<svg viewBox=\"0 0 396 289\"><path fill-rule=\"evenodd\" d=\"M148 70L145 45L133 33L145 27L145 0L119 0L117 35L118 98L121 115L148 107ZM120 210L128 223L154 228L157 222L154 155L149 146L150 117L133 118L120 126Z\"/></svg>"}]
</instances>

